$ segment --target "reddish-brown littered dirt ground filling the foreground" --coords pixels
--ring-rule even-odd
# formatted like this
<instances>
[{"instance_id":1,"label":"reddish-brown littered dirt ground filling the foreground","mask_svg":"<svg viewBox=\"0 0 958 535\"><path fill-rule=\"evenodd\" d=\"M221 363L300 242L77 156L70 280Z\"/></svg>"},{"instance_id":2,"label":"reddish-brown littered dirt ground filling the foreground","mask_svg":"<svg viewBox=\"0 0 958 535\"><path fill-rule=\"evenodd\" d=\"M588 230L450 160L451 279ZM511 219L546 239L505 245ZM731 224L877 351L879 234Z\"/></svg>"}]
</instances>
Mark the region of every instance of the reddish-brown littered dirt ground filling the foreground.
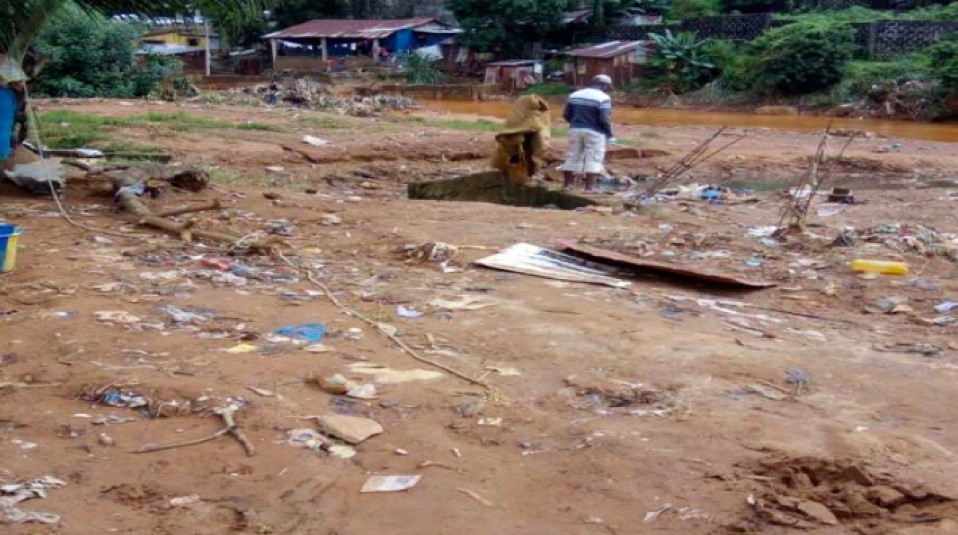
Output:
<instances>
[{"instance_id":1,"label":"reddish-brown littered dirt ground filling the foreground","mask_svg":"<svg viewBox=\"0 0 958 535\"><path fill-rule=\"evenodd\" d=\"M435 368L279 258L230 258L136 228L113 213L105 184L74 175L74 218L142 238L68 226L51 201L3 186L0 217L26 231L19 268L0 278L0 480L66 482L18 506L59 522L5 532L958 533L958 327L929 324L958 315L934 309L958 301L958 264L888 234L861 239L882 223L958 232L953 144L857 140L836 181L862 203L829 215L839 206L816 201L808 235L768 245L747 231L777 223L778 190L801 176L818 136L751 131L687 180L746 185L757 202L566 212L406 199L409 181L485 168L492 133L464 126L467 117L43 107L274 125L110 135L213 170L210 190L165 189L155 207L221 199L197 224L240 235L287 220L285 239L340 302L493 388L448 373L389 382L381 367ZM711 131L622 127L652 157L612 165L652 175ZM330 143L308 147L304 134ZM830 246L849 226L855 244ZM515 242L570 238L777 286L743 293L645 275L616 289L471 264ZM453 269L401 251L427 242L459 246ZM863 278L847 266L855 258L903 261L911 273ZM240 275L219 271L239 263ZM464 297L488 306L435 302ZM166 305L203 317L177 322ZM402 317L399 305L424 314ZM327 327L323 352L269 336L304 322ZM313 381L337 373L376 380L378 398L334 396ZM111 385L149 407L107 406ZM237 420L255 456L230 435L137 453L216 432L222 421L199 409L227 398L248 402ZM351 459L288 443L290 430L318 429L311 417L331 413L384 431ZM422 479L406 492L360 493L371 475Z\"/></svg>"}]
</instances>

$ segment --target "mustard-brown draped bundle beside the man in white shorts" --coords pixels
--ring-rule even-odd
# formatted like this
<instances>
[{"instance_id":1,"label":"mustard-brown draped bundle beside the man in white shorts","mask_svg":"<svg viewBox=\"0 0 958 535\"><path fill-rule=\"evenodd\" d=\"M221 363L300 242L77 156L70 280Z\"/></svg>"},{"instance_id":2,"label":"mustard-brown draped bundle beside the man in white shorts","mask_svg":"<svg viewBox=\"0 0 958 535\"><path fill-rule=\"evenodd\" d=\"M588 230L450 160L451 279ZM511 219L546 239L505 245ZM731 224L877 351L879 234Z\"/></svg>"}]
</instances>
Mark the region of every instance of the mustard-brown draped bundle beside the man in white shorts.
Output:
<instances>
[{"instance_id":1,"label":"mustard-brown draped bundle beside the man in white shorts","mask_svg":"<svg viewBox=\"0 0 958 535\"><path fill-rule=\"evenodd\" d=\"M538 173L552 138L551 124L548 102L538 95L519 97L496 134L492 166L516 182Z\"/></svg>"}]
</instances>

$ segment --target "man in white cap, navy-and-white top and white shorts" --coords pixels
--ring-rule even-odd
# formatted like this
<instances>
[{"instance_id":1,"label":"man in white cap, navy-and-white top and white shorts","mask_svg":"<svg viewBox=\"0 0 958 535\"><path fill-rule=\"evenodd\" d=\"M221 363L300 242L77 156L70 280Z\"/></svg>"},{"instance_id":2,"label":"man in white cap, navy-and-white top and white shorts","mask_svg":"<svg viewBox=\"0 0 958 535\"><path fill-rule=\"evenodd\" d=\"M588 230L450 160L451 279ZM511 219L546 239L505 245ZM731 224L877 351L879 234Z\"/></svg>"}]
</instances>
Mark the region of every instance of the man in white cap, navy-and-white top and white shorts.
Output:
<instances>
[{"instance_id":1,"label":"man in white cap, navy-and-white top and white shorts","mask_svg":"<svg viewBox=\"0 0 958 535\"><path fill-rule=\"evenodd\" d=\"M596 179L605 172L605 146L612 136L612 79L600 74L589 87L569 95L565 112L569 123L569 152L566 155L563 188L575 186L577 174L585 175L586 193L595 192Z\"/></svg>"}]
</instances>

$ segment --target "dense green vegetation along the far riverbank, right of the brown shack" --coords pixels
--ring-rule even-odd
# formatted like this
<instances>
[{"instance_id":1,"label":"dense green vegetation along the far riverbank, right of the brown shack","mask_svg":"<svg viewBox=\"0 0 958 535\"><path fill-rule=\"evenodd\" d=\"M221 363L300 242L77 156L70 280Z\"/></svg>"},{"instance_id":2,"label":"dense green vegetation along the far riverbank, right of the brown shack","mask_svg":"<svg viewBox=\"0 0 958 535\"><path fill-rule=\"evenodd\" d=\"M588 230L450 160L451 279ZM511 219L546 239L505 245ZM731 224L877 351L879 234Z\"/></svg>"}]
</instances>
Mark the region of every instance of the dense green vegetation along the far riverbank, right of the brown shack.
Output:
<instances>
[{"instance_id":1,"label":"dense green vegetation along the far riverbank, right of the brown shack","mask_svg":"<svg viewBox=\"0 0 958 535\"><path fill-rule=\"evenodd\" d=\"M958 36L926 50L883 59L866 58L851 24L893 15L864 8L784 14L784 25L750 43L702 40L695 35L650 36L656 54L641 96L681 95L689 101L761 104L787 102L831 108L893 99L902 116L958 116L945 103L958 93ZM958 3L902 15L911 20L956 20Z\"/></svg>"}]
</instances>

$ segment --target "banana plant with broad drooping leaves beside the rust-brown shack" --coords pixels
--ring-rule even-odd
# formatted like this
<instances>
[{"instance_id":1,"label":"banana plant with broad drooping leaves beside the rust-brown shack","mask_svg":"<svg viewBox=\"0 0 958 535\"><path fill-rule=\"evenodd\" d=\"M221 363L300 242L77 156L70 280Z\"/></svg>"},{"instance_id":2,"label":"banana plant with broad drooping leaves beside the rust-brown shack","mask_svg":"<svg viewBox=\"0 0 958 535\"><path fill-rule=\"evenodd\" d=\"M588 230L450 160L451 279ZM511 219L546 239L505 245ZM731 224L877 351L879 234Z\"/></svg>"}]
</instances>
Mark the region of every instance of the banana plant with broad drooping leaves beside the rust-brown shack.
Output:
<instances>
[{"instance_id":1,"label":"banana plant with broad drooping leaves beside the rust-brown shack","mask_svg":"<svg viewBox=\"0 0 958 535\"><path fill-rule=\"evenodd\" d=\"M671 89L677 93L698 88L715 69L705 51L709 39L699 39L695 32L673 34L665 30L664 34L650 33L649 39L655 43L654 61L665 70Z\"/></svg>"}]
</instances>

